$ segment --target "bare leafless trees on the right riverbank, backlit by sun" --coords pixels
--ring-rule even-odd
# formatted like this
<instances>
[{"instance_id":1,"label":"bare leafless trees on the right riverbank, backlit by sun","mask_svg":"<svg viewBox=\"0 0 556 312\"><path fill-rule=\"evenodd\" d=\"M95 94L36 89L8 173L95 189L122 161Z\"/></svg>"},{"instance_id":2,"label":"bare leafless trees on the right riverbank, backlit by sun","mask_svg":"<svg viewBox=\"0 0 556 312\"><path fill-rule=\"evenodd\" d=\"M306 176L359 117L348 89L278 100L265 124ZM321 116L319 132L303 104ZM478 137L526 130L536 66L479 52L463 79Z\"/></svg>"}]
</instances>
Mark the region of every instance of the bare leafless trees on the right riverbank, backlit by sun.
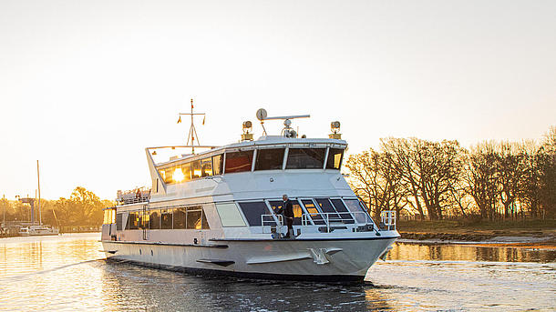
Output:
<instances>
[{"instance_id":1,"label":"bare leafless trees on the right riverbank, backlit by sun","mask_svg":"<svg viewBox=\"0 0 556 312\"><path fill-rule=\"evenodd\" d=\"M556 216L556 127L535 142L384 138L378 150L349 156L355 193L379 219L396 210L430 220L488 220Z\"/></svg>"}]
</instances>

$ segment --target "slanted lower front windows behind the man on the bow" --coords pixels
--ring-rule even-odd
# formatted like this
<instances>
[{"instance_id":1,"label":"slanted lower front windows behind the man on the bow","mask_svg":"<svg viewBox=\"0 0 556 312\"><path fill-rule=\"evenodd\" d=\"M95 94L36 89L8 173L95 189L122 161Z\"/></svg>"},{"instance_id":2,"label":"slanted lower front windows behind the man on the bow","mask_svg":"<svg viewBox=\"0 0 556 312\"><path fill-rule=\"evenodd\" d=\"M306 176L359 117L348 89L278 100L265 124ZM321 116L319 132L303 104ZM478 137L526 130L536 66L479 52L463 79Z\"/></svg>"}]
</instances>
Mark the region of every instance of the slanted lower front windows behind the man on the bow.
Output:
<instances>
[{"instance_id":1,"label":"slanted lower front windows behind the man on the bow","mask_svg":"<svg viewBox=\"0 0 556 312\"><path fill-rule=\"evenodd\" d=\"M302 215L308 214L307 220L314 225L325 225L329 223L353 224L366 223L370 217L366 214L366 207L357 199L331 199L331 198L304 198L290 199L293 206L293 225L302 224ZM243 216L250 226L275 225L272 220L263 215L269 215L282 208L282 200L269 200L266 205L264 201L238 203L242 209ZM303 204L303 205L302 205ZM326 214L326 215L323 215Z\"/></svg>"}]
</instances>

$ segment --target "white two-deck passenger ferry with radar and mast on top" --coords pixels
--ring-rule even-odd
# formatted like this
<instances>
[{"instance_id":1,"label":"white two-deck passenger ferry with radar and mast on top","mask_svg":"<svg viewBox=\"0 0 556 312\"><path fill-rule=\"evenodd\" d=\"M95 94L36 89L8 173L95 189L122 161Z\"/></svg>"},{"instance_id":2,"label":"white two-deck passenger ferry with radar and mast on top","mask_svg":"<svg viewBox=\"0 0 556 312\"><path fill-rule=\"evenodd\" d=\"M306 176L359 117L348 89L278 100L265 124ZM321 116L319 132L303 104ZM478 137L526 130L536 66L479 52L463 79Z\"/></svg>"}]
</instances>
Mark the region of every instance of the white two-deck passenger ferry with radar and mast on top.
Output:
<instances>
[{"instance_id":1,"label":"white two-deck passenger ferry with radar and mast on top","mask_svg":"<svg viewBox=\"0 0 556 312\"><path fill-rule=\"evenodd\" d=\"M196 136L191 113L190 136ZM236 277L362 281L399 237L396 216L380 226L340 172L347 144L339 122L328 138L298 137L291 120L281 136L242 140L155 162L160 146L146 148L152 188L118 192L105 209L102 245L108 259L191 273ZM283 195L293 204L293 236L282 215Z\"/></svg>"}]
</instances>

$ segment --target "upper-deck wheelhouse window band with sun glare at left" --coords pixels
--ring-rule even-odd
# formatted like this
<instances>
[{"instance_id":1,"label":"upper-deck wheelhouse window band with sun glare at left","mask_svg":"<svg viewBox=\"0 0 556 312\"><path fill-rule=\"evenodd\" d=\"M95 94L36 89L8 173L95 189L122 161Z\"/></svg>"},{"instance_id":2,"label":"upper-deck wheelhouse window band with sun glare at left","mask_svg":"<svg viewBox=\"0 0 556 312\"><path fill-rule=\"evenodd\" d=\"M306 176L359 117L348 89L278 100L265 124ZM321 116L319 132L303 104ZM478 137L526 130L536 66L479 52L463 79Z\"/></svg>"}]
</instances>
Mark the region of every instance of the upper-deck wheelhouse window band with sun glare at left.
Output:
<instances>
[{"instance_id":1,"label":"upper-deck wheelhouse window band with sun glare at left","mask_svg":"<svg viewBox=\"0 0 556 312\"><path fill-rule=\"evenodd\" d=\"M255 170L280 170L283 168L285 148L257 150ZM190 179L251 171L253 151L230 152L226 154L226 165L222 172L223 154L195 160L190 163L159 169L166 184L180 183ZM344 149L330 148L324 166L326 148L290 148L286 159L286 169L340 169Z\"/></svg>"}]
</instances>

